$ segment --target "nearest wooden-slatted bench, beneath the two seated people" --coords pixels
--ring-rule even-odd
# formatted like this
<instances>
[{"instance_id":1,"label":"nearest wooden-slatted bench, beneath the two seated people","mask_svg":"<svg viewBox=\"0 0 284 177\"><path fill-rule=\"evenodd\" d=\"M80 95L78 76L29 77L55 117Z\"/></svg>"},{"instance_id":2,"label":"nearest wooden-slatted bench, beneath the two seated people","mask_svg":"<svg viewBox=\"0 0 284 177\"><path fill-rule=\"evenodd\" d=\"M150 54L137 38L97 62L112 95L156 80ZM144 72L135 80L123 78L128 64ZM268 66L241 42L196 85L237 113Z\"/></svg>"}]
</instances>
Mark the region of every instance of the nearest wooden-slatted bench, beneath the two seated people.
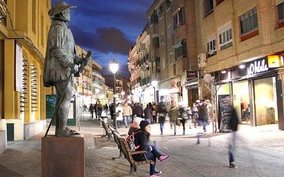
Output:
<instances>
[{"instance_id":1,"label":"nearest wooden-slatted bench, beneath the two seated people","mask_svg":"<svg viewBox=\"0 0 284 177\"><path fill-rule=\"evenodd\" d=\"M139 151L139 152L131 152L128 143L126 142L125 138L119 138L119 144L121 146L121 151L123 152L125 158L130 163L130 174L134 174L134 171L137 171L137 165L144 165L144 164L152 164L154 165L154 161L148 160L145 156L145 151ZM146 160L136 161L132 158L132 155L134 154L144 154Z\"/></svg>"}]
</instances>

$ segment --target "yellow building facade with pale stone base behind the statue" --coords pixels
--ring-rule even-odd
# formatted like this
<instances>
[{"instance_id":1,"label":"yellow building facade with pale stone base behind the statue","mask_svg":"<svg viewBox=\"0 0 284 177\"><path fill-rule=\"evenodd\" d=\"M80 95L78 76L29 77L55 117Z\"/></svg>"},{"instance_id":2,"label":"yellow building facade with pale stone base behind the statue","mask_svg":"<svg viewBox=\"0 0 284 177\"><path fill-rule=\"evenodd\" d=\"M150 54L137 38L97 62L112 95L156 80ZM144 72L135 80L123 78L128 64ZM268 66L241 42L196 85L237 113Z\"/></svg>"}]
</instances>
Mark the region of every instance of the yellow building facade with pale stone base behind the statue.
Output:
<instances>
[{"instance_id":1,"label":"yellow building facade with pale stone base behind the statue","mask_svg":"<svg viewBox=\"0 0 284 177\"><path fill-rule=\"evenodd\" d=\"M24 140L45 128L45 95L52 91L43 87L41 76L50 7L50 0L0 2L0 132L5 131L5 141Z\"/></svg>"}]
</instances>

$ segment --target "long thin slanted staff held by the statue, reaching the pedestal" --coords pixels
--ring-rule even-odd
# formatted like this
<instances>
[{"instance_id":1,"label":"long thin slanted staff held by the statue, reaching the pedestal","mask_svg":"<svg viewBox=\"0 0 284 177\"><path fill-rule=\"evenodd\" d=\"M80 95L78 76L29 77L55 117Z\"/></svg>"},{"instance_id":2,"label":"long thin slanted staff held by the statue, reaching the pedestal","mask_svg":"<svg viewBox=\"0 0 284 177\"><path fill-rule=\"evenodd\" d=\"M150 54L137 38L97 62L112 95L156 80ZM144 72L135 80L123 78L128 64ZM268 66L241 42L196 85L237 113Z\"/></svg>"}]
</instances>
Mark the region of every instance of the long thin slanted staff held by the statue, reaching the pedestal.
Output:
<instances>
[{"instance_id":1,"label":"long thin slanted staff held by the statue, reaching the pedestal","mask_svg":"<svg viewBox=\"0 0 284 177\"><path fill-rule=\"evenodd\" d=\"M85 66L88 65L88 62L90 61L90 56L91 56L91 55L92 55L92 52L91 52L91 51L88 51L88 53L86 54L85 58L83 58L83 61L81 62L81 65L80 65L78 71L77 71L76 73L74 73L74 76L75 76L75 77L79 77L79 76L80 76L80 73L83 72ZM70 79L71 79L71 76L72 76L72 74L69 75L68 80L66 81L66 85L65 85L65 88L64 88L64 90L63 90L63 93L61 94L60 100L59 100L59 102L57 103L57 106L55 107L55 111L54 111L54 113L53 113L53 115L52 115L50 124L48 125L48 129L47 129L46 132L45 132L45 135L44 135L45 137L48 136L48 132L50 131L50 127L51 127L51 125L52 125L52 121L54 121L55 114L57 114L57 112L58 112L59 105L61 104L61 102L62 102L62 100L63 100L63 97L64 97L65 92L66 92L66 89L67 89L67 85L68 85L68 83L69 83L69 81L70 81Z\"/></svg>"}]
</instances>

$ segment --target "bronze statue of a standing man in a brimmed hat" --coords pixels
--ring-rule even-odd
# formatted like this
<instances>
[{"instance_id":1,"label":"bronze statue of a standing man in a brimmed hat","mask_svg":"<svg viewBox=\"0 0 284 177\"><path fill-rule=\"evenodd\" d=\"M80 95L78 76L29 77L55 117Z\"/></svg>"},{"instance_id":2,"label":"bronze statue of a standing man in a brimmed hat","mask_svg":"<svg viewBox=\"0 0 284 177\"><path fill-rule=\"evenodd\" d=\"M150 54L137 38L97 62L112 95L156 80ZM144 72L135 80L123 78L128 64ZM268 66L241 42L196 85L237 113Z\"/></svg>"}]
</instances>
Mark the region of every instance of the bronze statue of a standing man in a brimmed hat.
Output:
<instances>
[{"instance_id":1,"label":"bronze statue of a standing man in a brimmed hat","mask_svg":"<svg viewBox=\"0 0 284 177\"><path fill-rule=\"evenodd\" d=\"M64 1L55 3L48 14L52 19L48 33L48 45L45 54L43 70L43 83L45 87L54 86L57 94L57 109L54 113L56 120L56 136L77 136L78 134L68 129L67 119L72 98L74 73L78 65L84 62L77 55L73 34L68 26L70 9Z\"/></svg>"}]
</instances>

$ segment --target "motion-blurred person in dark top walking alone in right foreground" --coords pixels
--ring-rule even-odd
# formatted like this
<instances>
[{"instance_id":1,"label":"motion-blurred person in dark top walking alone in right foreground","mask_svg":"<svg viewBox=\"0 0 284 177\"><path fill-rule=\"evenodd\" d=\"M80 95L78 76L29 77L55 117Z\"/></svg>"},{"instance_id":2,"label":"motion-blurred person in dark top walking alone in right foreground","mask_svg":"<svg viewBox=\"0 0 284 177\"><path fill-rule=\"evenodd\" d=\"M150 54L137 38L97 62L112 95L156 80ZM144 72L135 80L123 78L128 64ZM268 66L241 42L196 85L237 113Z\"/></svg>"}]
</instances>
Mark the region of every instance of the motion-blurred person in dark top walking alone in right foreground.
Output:
<instances>
[{"instance_id":1,"label":"motion-blurred person in dark top walking alone in right foreground","mask_svg":"<svg viewBox=\"0 0 284 177\"><path fill-rule=\"evenodd\" d=\"M235 158L234 158L234 151L236 149L236 131L238 130L238 123L239 118L238 114L236 114L236 110L232 109L231 111L231 120L230 120L230 127L232 129L231 137L229 140L229 167L236 168Z\"/></svg>"}]
</instances>

